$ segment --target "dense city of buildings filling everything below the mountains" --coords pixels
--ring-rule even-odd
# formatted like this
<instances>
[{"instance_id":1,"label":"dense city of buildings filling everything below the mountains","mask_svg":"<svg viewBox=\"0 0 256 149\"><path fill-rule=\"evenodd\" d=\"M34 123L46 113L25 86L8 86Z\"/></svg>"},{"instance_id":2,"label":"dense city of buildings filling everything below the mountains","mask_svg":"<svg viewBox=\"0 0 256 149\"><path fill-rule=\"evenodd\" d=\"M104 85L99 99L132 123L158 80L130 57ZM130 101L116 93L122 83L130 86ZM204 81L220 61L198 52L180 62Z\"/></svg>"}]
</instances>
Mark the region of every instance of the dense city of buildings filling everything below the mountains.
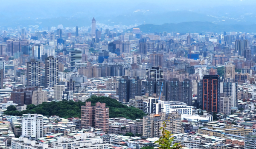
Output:
<instances>
[{"instance_id":1,"label":"dense city of buildings filling everything below the mountains","mask_svg":"<svg viewBox=\"0 0 256 149\"><path fill-rule=\"evenodd\" d=\"M256 33L90 24L0 27L0 149L256 149Z\"/></svg>"}]
</instances>

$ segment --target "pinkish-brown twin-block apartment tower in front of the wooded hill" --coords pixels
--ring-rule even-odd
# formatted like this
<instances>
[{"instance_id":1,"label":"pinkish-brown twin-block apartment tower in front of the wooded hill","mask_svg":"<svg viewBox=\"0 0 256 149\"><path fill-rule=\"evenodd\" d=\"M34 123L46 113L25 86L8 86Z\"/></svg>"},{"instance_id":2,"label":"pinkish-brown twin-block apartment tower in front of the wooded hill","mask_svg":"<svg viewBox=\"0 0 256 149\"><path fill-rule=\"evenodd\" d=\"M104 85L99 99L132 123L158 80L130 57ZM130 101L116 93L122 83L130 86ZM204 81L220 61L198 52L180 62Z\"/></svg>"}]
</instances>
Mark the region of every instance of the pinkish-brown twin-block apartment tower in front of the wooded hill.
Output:
<instances>
[{"instance_id":1,"label":"pinkish-brown twin-block apartment tower in front of the wooded hill","mask_svg":"<svg viewBox=\"0 0 256 149\"><path fill-rule=\"evenodd\" d=\"M91 106L91 102L86 102L81 106L81 127L98 128L103 132L108 132L109 109L105 103L97 102L96 106Z\"/></svg>"}]
</instances>

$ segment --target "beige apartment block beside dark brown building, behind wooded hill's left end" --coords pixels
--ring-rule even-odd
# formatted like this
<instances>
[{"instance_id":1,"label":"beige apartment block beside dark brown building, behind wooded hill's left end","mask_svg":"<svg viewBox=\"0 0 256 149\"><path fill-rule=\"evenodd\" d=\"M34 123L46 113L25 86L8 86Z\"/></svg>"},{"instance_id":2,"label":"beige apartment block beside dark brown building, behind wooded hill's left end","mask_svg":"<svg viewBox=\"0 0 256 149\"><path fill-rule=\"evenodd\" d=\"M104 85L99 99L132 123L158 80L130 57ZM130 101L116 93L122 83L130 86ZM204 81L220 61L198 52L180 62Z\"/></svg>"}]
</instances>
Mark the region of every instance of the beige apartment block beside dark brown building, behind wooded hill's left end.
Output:
<instances>
[{"instance_id":1,"label":"beige apartment block beside dark brown building, behind wooded hill's left end","mask_svg":"<svg viewBox=\"0 0 256 149\"><path fill-rule=\"evenodd\" d=\"M38 90L33 91L32 104L42 104L43 102L47 102L47 99L47 91L43 91L41 87L38 87Z\"/></svg>"}]
</instances>

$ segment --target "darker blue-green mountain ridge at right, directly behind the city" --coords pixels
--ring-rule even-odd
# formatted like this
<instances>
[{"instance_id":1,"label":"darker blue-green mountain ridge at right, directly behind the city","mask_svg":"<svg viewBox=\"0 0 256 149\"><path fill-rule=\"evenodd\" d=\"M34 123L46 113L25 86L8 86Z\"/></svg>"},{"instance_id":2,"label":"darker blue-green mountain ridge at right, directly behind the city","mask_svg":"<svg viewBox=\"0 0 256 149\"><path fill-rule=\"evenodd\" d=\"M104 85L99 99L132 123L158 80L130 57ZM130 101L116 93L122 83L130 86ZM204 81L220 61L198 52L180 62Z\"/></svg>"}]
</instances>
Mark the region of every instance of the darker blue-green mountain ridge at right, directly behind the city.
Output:
<instances>
[{"instance_id":1,"label":"darker blue-green mountain ridge at right, directly behind the city","mask_svg":"<svg viewBox=\"0 0 256 149\"><path fill-rule=\"evenodd\" d=\"M139 25L137 28L143 33L154 33L154 32L178 32L178 33L206 33L222 31L236 31L236 32L247 32L256 33L256 24L253 25L219 25L212 22L181 22L181 23L166 23L163 25L145 24ZM127 30L132 31L132 28Z\"/></svg>"}]
</instances>

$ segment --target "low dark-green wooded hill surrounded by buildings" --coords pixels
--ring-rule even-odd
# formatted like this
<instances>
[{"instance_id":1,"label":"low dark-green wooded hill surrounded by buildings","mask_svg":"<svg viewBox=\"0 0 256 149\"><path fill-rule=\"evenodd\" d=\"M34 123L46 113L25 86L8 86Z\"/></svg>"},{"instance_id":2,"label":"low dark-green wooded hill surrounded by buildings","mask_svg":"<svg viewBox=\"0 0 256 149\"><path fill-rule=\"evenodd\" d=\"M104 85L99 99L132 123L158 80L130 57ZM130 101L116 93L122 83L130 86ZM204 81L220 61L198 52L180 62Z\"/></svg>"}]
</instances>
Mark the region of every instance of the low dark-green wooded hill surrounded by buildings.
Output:
<instances>
[{"instance_id":1,"label":"low dark-green wooded hill surrounded by buildings","mask_svg":"<svg viewBox=\"0 0 256 149\"><path fill-rule=\"evenodd\" d=\"M91 101L92 105L95 105L96 102L106 103L106 106L109 107L109 118L125 117L128 119L136 119L143 118L143 115L146 115L139 109L123 105L109 97L92 96L91 98L87 99L87 101ZM81 101L52 101L49 103L44 102L42 104L38 104L37 106L30 104L27 106L27 109L23 111L17 111L14 106L9 106L4 114L22 116L23 114L27 113L37 113L44 116L57 115L61 118L81 118L81 106L84 105L85 103Z\"/></svg>"}]
</instances>

